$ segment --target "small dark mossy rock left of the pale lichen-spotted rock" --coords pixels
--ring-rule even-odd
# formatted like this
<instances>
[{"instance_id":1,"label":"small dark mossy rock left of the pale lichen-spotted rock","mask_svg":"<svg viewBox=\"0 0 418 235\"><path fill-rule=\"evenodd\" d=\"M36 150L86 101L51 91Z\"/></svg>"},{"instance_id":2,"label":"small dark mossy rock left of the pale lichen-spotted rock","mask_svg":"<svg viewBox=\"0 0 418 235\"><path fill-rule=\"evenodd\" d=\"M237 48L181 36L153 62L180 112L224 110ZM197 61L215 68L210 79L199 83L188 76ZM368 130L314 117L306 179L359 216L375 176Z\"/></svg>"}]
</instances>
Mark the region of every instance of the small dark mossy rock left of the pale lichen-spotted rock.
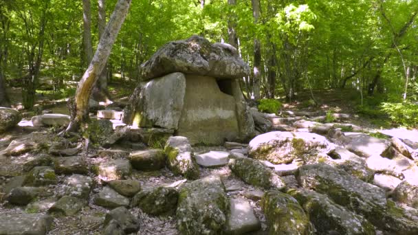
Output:
<instances>
[{"instance_id":1,"label":"small dark mossy rock left of the pale lichen-spotted rock","mask_svg":"<svg viewBox=\"0 0 418 235\"><path fill-rule=\"evenodd\" d=\"M25 184L28 186L48 186L58 183L54 169L50 166L35 166L28 174Z\"/></svg>"}]
</instances>

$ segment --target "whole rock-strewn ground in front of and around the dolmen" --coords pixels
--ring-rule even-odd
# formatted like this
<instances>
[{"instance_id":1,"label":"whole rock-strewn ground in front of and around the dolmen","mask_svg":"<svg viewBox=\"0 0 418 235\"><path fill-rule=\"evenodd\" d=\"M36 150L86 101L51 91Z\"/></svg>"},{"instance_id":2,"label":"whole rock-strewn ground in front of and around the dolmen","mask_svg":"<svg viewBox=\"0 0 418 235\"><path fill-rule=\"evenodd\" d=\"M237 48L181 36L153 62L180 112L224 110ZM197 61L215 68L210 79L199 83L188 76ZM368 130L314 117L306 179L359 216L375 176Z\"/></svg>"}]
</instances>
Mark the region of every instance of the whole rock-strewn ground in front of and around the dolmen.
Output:
<instances>
[{"instance_id":1,"label":"whole rock-strewn ground in front of and around the dolmen","mask_svg":"<svg viewBox=\"0 0 418 235\"><path fill-rule=\"evenodd\" d=\"M68 116L0 109L0 234L418 234L417 131L252 109L249 144L190 146L111 109L88 153Z\"/></svg>"}]
</instances>

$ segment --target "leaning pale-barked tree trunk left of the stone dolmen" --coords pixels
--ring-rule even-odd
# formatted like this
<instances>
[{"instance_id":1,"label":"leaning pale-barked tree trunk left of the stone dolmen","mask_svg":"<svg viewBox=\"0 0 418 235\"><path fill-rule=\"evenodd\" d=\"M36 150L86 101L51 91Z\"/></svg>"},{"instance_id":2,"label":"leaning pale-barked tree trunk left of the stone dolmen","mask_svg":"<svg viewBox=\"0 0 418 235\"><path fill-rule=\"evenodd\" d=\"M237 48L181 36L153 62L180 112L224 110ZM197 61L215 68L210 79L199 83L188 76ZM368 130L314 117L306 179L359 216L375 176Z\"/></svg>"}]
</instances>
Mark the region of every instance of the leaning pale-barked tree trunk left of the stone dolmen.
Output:
<instances>
[{"instance_id":1,"label":"leaning pale-barked tree trunk left of the stone dolmen","mask_svg":"<svg viewBox=\"0 0 418 235\"><path fill-rule=\"evenodd\" d=\"M104 29L104 34L100 39L100 43L96 49L93 59L89 67L85 71L83 78L78 83L75 97L75 115L66 131L76 131L80 124L89 121L89 98L94 84L97 82L103 71L104 65L107 63L113 43L115 43L120 27L129 12L131 0L118 0L115 10L111 15L109 23Z\"/></svg>"}]
</instances>

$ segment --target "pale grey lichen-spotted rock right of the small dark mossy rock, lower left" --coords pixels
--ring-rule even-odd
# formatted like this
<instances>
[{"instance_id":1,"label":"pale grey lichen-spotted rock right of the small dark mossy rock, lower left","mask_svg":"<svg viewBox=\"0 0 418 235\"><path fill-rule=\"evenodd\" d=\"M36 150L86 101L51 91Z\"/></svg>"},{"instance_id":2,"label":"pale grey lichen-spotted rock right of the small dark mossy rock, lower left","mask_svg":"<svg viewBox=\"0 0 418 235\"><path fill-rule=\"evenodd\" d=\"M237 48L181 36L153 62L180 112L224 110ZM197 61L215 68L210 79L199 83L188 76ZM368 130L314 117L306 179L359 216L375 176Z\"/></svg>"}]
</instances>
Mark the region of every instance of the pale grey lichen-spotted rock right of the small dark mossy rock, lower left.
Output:
<instances>
[{"instance_id":1,"label":"pale grey lichen-spotted rock right of the small dark mossy rock, lower left","mask_svg":"<svg viewBox=\"0 0 418 235\"><path fill-rule=\"evenodd\" d=\"M65 179L62 191L59 191L58 194L87 200L93 183L91 177L74 174Z\"/></svg>"}]
</instances>

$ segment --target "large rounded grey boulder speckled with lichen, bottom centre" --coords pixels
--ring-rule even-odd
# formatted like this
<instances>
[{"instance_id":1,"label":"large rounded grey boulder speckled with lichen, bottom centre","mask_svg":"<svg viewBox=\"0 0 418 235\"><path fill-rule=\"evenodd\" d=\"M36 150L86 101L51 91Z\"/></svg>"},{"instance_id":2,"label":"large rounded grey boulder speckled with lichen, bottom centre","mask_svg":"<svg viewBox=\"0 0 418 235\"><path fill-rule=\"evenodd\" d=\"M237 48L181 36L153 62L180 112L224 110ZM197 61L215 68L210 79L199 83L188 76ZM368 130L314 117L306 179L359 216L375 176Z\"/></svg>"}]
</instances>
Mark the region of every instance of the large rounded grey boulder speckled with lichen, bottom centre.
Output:
<instances>
[{"instance_id":1,"label":"large rounded grey boulder speckled with lichen, bottom centre","mask_svg":"<svg viewBox=\"0 0 418 235\"><path fill-rule=\"evenodd\" d=\"M181 234L219 234L228 210L229 200L219 176L192 181L180 190L177 228Z\"/></svg>"}]
</instances>

